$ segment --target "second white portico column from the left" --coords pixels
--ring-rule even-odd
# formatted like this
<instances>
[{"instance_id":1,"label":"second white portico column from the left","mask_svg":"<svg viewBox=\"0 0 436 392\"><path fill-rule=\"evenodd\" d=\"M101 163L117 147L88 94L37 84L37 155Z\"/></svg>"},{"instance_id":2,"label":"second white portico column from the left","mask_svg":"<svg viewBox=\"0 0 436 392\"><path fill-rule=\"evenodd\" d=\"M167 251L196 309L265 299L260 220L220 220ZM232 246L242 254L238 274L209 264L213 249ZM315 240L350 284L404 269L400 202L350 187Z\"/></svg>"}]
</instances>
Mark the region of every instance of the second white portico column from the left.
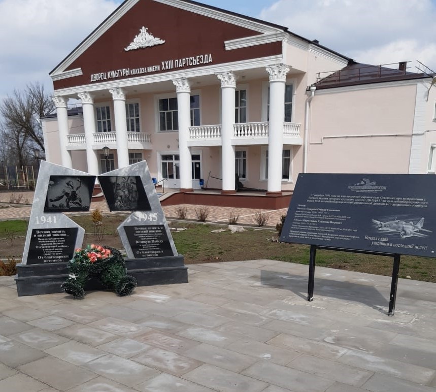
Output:
<instances>
[{"instance_id":1,"label":"second white portico column from the left","mask_svg":"<svg viewBox=\"0 0 436 392\"><path fill-rule=\"evenodd\" d=\"M85 128L86 142L86 160L88 162L88 173L93 176L98 175L98 159L92 145L94 144L95 129L95 114L94 114L94 99L88 91L79 92L77 94L82 101L83 109L83 126Z\"/></svg>"}]
</instances>

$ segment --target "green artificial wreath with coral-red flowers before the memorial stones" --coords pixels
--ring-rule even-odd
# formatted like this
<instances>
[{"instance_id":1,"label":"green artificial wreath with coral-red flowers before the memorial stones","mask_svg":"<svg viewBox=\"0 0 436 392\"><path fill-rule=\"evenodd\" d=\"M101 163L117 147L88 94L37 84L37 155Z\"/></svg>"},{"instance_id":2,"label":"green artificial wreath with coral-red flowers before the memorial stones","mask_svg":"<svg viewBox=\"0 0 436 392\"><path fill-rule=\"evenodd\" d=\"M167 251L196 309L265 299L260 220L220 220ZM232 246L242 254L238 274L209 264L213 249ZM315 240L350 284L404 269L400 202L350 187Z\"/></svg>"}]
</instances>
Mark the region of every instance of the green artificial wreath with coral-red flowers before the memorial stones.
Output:
<instances>
[{"instance_id":1,"label":"green artificial wreath with coral-red flowers before the memorial stones","mask_svg":"<svg viewBox=\"0 0 436 392\"><path fill-rule=\"evenodd\" d=\"M128 296L137 285L133 276L126 275L121 253L109 246L91 244L84 249L76 249L68 263L68 270L69 277L60 288L75 299L85 295L84 286L90 278L98 279L104 287L115 290L120 297Z\"/></svg>"}]
</instances>

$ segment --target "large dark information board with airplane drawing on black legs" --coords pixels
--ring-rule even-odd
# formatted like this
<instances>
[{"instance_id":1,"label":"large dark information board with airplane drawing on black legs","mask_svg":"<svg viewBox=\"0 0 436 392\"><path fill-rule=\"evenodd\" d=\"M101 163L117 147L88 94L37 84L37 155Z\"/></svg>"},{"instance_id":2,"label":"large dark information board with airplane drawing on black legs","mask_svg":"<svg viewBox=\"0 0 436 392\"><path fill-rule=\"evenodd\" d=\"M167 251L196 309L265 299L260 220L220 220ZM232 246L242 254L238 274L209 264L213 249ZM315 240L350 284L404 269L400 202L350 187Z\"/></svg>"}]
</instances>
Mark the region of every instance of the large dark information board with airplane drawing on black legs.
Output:
<instances>
[{"instance_id":1,"label":"large dark information board with airplane drawing on black legs","mask_svg":"<svg viewBox=\"0 0 436 392\"><path fill-rule=\"evenodd\" d=\"M436 176L300 174L281 241L436 257Z\"/></svg>"}]
</instances>

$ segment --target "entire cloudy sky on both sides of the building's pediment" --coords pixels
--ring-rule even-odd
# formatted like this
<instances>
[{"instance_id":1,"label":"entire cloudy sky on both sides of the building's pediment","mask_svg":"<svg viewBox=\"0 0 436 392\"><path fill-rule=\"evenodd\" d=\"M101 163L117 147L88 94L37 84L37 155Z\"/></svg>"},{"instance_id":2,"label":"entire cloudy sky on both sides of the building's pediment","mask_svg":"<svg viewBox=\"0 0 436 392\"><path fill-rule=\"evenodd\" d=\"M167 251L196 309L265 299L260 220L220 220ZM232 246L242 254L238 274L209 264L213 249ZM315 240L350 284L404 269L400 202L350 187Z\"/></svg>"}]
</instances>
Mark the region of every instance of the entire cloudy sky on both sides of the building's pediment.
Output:
<instances>
[{"instance_id":1,"label":"entire cloudy sky on both sides of the building's pediment","mask_svg":"<svg viewBox=\"0 0 436 392\"><path fill-rule=\"evenodd\" d=\"M286 26L358 62L436 71L436 0L203 0ZM0 99L48 73L122 2L0 0ZM415 71L416 62L411 71Z\"/></svg>"}]
</instances>

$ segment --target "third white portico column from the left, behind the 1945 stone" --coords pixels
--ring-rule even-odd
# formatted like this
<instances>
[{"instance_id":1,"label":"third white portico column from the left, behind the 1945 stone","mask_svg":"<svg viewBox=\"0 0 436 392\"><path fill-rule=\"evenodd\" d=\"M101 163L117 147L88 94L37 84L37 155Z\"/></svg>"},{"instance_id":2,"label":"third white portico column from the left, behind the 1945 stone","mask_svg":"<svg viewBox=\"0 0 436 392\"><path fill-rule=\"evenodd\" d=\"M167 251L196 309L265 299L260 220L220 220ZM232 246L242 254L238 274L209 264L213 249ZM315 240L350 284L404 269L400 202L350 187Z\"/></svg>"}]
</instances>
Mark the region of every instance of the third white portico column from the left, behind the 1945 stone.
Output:
<instances>
[{"instance_id":1,"label":"third white portico column from the left, behind the 1945 stone","mask_svg":"<svg viewBox=\"0 0 436 392\"><path fill-rule=\"evenodd\" d=\"M126 95L120 87L110 88L114 101L115 133L117 136L118 169L129 164L126 123Z\"/></svg>"}]
</instances>

